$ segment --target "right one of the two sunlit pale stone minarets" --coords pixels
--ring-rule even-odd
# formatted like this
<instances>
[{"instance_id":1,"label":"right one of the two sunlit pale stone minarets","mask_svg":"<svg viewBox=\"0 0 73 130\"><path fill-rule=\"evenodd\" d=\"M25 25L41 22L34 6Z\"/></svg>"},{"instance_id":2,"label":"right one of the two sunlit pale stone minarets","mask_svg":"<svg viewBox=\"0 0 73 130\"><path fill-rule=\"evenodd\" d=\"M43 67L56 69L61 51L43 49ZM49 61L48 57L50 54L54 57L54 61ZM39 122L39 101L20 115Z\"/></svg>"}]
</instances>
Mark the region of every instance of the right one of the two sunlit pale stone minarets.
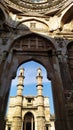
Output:
<instances>
[{"instance_id":1,"label":"right one of the two sunlit pale stone minarets","mask_svg":"<svg viewBox=\"0 0 73 130\"><path fill-rule=\"evenodd\" d=\"M45 130L45 115L44 115L44 96L42 95L42 70L38 68L37 70L37 130Z\"/></svg>"}]
</instances>

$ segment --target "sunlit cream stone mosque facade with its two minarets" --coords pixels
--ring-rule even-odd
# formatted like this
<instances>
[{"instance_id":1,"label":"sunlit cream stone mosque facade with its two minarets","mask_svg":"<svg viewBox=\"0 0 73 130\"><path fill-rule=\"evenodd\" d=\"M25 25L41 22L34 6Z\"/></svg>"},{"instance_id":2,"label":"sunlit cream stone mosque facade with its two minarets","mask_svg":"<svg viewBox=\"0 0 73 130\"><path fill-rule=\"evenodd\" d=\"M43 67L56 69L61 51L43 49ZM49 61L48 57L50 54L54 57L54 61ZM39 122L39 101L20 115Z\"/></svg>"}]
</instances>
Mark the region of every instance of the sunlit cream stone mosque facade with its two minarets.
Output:
<instances>
[{"instance_id":1,"label":"sunlit cream stone mosque facade with its two minarets","mask_svg":"<svg viewBox=\"0 0 73 130\"><path fill-rule=\"evenodd\" d=\"M42 79L42 71L38 68L37 96L23 96L24 69L20 69L17 95L10 97L5 130L55 130L55 116L50 113L49 98L42 94Z\"/></svg>"}]
</instances>

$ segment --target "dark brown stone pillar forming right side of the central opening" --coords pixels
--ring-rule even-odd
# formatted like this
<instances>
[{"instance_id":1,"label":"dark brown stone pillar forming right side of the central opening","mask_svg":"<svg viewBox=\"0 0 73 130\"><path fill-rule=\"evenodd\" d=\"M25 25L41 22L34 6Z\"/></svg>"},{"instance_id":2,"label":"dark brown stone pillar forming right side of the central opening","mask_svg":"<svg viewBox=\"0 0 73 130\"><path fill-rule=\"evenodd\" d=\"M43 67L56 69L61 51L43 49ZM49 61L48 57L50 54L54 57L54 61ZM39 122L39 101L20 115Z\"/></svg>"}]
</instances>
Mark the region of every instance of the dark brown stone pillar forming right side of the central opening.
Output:
<instances>
[{"instance_id":1,"label":"dark brown stone pillar forming right side of the central opening","mask_svg":"<svg viewBox=\"0 0 73 130\"><path fill-rule=\"evenodd\" d=\"M66 121L64 88L62 84L58 58L56 57L55 53L53 53L52 55L52 61L53 61L52 90L53 90L55 117L56 117L55 128L56 130L69 130Z\"/></svg>"}]
</instances>

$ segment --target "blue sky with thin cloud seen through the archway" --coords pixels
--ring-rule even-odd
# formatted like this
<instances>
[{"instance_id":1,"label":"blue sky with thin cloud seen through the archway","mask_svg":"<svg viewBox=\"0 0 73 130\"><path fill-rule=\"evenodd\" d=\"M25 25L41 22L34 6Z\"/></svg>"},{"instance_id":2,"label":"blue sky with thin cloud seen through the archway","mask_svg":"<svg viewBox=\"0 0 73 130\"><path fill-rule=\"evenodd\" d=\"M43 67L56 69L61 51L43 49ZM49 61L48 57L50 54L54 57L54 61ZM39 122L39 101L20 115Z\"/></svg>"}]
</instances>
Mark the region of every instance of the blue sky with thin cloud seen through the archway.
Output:
<instances>
[{"instance_id":1,"label":"blue sky with thin cloud seen through the archway","mask_svg":"<svg viewBox=\"0 0 73 130\"><path fill-rule=\"evenodd\" d=\"M51 89L51 81L47 79L47 72L46 69L39 63L30 61L22 64L18 70L17 70L17 76L19 75L19 69L23 67L24 68L24 88L23 88L23 95L37 95L37 81L36 81L36 75L37 75L37 69L41 68L42 70L42 84L43 84L43 95L49 97L50 102L50 112L51 114L54 114L54 108L53 108L53 98L52 98L52 89ZM18 78L13 79L11 83L11 91L10 96L15 96L17 91L17 82Z\"/></svg>"}]
</instances>

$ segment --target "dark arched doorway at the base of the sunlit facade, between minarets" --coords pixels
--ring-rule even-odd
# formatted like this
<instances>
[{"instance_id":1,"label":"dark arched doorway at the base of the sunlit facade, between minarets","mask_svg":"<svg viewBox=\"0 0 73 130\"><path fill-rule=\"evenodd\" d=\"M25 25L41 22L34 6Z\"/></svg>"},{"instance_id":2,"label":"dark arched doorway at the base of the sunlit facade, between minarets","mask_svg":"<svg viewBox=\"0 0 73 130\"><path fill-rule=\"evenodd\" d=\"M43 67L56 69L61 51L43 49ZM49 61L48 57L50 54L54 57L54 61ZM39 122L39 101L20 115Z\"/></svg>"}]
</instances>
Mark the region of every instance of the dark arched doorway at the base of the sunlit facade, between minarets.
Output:
<instances>
[{"instance_id":1,"label":"dark arched doorway at the base of the sunlit facade, between minarets","mask_svg":"<svg viewBox=\"0 0 73 130\"><path fill-rule=\"evenodd\" d=\"M31 112L27 112L24 116L23 130L35 130L34 116Z\"/></svg>"}]
</instances>

